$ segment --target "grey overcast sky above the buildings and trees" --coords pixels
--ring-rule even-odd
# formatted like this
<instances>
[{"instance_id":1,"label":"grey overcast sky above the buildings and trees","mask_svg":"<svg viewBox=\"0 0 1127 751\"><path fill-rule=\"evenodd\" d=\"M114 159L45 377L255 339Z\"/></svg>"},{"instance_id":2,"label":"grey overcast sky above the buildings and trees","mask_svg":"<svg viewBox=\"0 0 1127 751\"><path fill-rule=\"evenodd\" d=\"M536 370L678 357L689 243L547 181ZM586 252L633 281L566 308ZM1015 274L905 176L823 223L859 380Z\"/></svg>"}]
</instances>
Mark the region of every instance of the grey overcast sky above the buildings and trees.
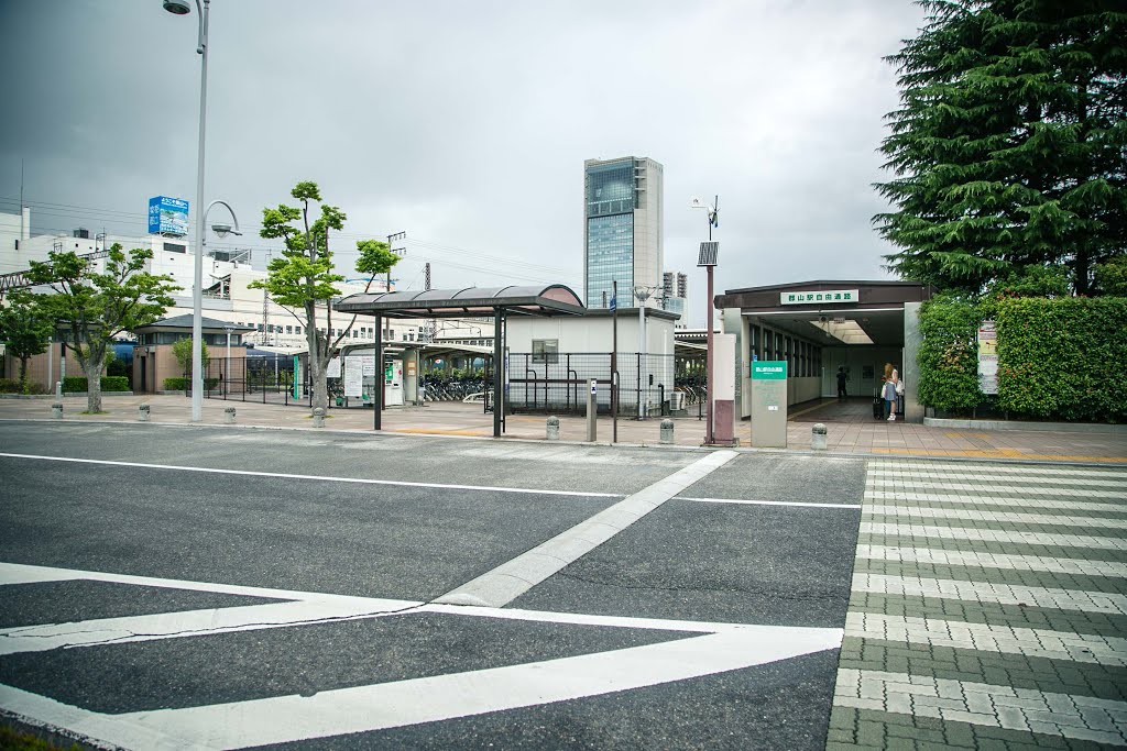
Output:
<instances>
[{"instance_id":1,"label":"grey overcast sky above the buildings and trees","mask_svg":"<svg viewBox=\"0 0 1127 751\"><path fill-rule=\"evenodd\" d=\"M234 207L239 247L270 247L261 208L313 180L348 215L346 275L357 239L406 230L401 286L431 261L436 288L582 293L583 161L638 155L665 167L665 266L690 274L694 325L696 195L720 196L718 292L888 278L870 185L897 101L881 57L923 23L907 0L211 6L205 198ZM195 203L195 10L0 0L0 211L21 160L36 233L141 235L150 196Z\"/></svg>"}]
</instances>

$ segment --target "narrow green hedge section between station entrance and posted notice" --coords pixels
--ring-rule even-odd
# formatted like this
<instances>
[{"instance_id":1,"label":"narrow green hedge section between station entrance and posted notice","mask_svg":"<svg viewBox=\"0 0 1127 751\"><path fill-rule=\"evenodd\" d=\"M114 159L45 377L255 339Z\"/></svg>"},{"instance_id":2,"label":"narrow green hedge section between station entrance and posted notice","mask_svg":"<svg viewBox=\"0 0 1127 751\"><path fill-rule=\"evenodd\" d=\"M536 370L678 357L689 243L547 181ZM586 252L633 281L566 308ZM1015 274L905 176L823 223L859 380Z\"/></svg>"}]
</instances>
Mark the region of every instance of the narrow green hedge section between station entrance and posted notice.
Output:
<instances>
[{"instance_id":1,"label":"narrow green hedge section between station entrance and posted notice","mask_svg":"<svg viewBox=\"0 0 1127 751\"><path fill-rule=\"evenodd\" d=\"M935 297L920 306L923 341L920 366L920 401L946 412L971 410L983 401L978 390L977 304Z\"/></svg>"}]
</instances>

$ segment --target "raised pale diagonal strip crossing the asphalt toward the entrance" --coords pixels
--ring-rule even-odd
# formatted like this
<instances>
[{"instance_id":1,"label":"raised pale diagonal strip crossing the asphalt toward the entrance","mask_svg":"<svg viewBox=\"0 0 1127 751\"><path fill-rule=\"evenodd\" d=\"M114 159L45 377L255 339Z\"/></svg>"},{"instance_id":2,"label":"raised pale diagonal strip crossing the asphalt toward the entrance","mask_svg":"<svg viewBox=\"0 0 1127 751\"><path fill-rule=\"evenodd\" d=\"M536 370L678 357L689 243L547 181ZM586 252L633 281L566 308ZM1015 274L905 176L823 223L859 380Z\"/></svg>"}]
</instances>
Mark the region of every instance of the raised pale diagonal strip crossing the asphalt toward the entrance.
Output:
<instances>
[{"instance_id":1,"label":"raised pale diagonal strip crossing the asphalt toward the entrance","mask_svg":"<svg viewBox=\"0 0 1127 751\"><path fill-rule=\"evenodd\" d=\"M507 605L736 456L728 450L709 454L435 601L496 608Z\"/></svg>"}]
</instances>

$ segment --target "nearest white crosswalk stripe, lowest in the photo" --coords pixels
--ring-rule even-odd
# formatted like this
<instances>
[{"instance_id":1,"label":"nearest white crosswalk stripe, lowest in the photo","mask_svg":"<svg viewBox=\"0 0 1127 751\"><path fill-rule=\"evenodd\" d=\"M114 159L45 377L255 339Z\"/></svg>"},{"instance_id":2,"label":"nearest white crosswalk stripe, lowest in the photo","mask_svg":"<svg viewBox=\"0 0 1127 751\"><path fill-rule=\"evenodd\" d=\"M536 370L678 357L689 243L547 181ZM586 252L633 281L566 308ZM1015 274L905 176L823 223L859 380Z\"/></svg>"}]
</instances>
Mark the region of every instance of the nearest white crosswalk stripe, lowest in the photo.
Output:
<instances>
[{"instance_id":1,"label":"nearest white crosswalk stripe, lowest in the photo","mask_svg":"<svg viewBox=\"0 0 1127 751\"><path fill-rule=\"evenodd\" d=\"M877 670L838 670L834 705L1112 745L1127 736L1127 701Z\"/></svg>"}]
</instances>

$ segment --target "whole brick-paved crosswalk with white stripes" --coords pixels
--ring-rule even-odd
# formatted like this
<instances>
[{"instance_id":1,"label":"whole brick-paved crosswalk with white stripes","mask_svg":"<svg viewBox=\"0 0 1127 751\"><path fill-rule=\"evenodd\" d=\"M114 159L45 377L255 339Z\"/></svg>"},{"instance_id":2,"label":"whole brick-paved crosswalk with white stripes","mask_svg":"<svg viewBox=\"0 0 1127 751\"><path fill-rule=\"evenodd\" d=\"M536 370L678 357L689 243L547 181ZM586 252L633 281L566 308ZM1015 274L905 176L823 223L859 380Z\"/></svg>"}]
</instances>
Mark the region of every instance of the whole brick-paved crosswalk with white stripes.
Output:
<instances>
[{"instance_id":1,"label":"whole brick-paved crosswalk with white stripes","mask_svg":"<svg viewBox=\"0 0 1127 751\"><path fill-rule=\"evenodd\" d=\"M829 751L1127 745L1127 471L873 459Z\"/></svg>"}]
</instances>

